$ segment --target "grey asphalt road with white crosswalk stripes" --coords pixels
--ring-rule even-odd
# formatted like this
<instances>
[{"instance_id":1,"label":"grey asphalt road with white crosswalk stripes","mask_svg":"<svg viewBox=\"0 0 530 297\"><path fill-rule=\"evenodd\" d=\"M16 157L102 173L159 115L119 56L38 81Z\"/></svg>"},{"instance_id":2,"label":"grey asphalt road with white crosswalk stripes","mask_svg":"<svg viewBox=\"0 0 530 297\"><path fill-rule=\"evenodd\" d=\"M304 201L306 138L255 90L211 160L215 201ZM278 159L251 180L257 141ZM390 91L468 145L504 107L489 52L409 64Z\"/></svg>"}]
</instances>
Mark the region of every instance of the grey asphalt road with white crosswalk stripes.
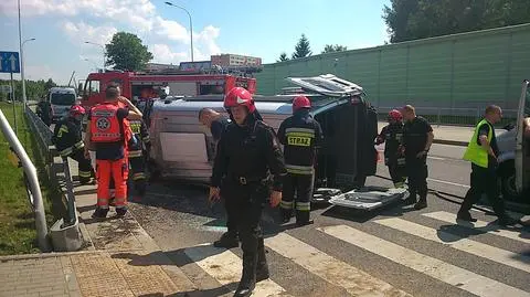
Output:
<instances>
[{"instance_id":1,"label":"grey asphalt road with white crosswalk stripes","mask_svg":"<svg viewBox=\"0 0 530 297\"><path fill-rule=\"evenodd\" d=\"M431 189L464 195L469 165L459 160L463 150L433 146ZM382 163L378 173L388 176ZM374 177L368 182L391 184ZM222 205L210 206L205 198L203 188L159 182L130 209L202 296L231 296L241 250L202 245L225 231ZM315 224L298 229L278 225L277 210L267 208L263 225L272 282L262 283L255 296L359 296L354 293L362 290L379 296L530 296L529 230L500 229L495 216L480 212L473 215L483 224L457 225L452 218L457 204L434 195L422 211L398 202L372 212L324 205L311 211Z\"/></svg>"}]
</instances>

